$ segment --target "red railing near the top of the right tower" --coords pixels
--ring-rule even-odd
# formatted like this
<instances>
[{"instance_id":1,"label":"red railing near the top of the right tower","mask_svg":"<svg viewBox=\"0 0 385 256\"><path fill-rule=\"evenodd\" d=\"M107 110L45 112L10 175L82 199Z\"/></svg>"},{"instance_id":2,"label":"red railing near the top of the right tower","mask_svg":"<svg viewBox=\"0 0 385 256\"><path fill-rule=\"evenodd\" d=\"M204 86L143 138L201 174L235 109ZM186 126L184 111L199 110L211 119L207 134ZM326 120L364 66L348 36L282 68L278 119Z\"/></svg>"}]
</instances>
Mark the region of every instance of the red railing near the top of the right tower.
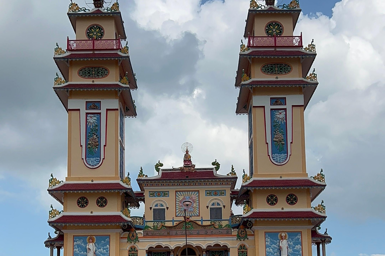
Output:
<instances>
[{"instance_id":1,"label":"red railing near the top of the right tower","mask_svg":"<svg viewBox=\"0 0 385 256\"><path fill-rule=\"evenodd\" d=\"M249 36L248 47L302 47L302 33L297 36Z\"/></svg>"}]
</instances>

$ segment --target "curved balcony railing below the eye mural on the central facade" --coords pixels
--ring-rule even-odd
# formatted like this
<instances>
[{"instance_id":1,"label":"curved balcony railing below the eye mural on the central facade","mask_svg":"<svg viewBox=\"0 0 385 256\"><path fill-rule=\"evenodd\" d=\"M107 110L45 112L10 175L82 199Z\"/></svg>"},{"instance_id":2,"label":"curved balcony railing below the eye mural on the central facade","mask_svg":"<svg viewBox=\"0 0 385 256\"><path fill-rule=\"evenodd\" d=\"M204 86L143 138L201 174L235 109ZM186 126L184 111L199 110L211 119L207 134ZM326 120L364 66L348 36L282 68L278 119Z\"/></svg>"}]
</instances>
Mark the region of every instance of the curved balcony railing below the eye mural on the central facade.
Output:
<instances>
[{"instance_id":1,"label":"curved balcony railing below the eye mural on the central facade","mask_svg":"<svg viewBox=\"0 0 385 256\"><path fill-rule=\"evenodd\" d=\"M236 227L241 221L242 215L233 215L228 219L191 219L196 221L201 225L210 225L213 224L215 228L224 228L224 227ZM150 230L159 230L164 229L169 226L176 225L180 221L184 220L145 220L143 217L131 216L132 223L136 228L140 229L150 229Z\"/></svg>"}]
</instances>

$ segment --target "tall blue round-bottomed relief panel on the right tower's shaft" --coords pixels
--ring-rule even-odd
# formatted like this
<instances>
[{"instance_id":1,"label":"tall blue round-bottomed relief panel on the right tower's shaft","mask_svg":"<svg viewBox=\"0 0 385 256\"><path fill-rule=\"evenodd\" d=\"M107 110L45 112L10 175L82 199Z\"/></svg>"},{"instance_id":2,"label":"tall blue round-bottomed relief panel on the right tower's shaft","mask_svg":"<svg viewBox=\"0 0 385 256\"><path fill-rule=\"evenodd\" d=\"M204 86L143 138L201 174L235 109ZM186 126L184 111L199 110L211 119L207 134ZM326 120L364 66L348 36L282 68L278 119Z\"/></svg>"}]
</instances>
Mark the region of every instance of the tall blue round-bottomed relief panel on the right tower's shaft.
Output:
<instances>
[{"instance_id":1,"label":"tall blue round-bottomed relief panel on the right tower's shaft","mask_svg":"<svg viewBox=\"0 0 385 256\"><path fill-rule=\"evenodd\" d=\"M286 109L270 109L271 120L271 158L275 163L287 159Z\"/></svg>"}]
</instances>

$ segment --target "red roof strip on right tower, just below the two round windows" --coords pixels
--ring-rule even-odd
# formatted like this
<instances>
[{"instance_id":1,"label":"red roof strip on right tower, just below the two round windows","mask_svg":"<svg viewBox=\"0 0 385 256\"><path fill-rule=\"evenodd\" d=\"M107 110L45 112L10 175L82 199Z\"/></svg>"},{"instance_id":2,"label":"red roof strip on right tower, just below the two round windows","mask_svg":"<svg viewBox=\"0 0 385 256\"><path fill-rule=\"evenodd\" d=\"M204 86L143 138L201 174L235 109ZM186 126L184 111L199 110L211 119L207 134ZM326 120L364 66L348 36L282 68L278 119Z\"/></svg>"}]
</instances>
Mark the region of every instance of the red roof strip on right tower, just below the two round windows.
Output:
<instances>
[{"instance_id":1,"label":"red roof strip on right tower, just below the two round windows","mask_svg":"<svg viewBox=\"0 0 385 256\"><path fill-rule=\"evenodd\" d=\"M244 216L243 218L246 219L287 219L287 218L305 218L305 219L311 219L311 218L326 218L326 216L321 215L319 213L316 213L314 211L310 210L303 210L303 211L253 211L250 215Z\"/></svg>"}]
</instances>

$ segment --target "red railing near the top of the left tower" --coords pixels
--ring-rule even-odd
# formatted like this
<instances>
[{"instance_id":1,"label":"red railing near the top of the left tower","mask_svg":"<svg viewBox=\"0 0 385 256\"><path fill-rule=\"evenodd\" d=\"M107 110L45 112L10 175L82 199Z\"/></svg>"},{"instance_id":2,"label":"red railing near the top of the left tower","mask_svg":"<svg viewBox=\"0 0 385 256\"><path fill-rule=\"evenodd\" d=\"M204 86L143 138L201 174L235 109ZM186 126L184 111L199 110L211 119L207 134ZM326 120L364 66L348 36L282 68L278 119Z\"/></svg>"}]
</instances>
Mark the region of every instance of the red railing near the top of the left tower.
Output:
<instances>
[{"instance_id":1,"label":"red railing near the top of the left tower","mask_svg":"<svg viewBox=\"0 0 385 256\"><path fill-rule=\"evenodd\" d=\"M70 40L67 37L67 50L117 50L121 48L120 38Z\"/></svg>"}]
</instances>

